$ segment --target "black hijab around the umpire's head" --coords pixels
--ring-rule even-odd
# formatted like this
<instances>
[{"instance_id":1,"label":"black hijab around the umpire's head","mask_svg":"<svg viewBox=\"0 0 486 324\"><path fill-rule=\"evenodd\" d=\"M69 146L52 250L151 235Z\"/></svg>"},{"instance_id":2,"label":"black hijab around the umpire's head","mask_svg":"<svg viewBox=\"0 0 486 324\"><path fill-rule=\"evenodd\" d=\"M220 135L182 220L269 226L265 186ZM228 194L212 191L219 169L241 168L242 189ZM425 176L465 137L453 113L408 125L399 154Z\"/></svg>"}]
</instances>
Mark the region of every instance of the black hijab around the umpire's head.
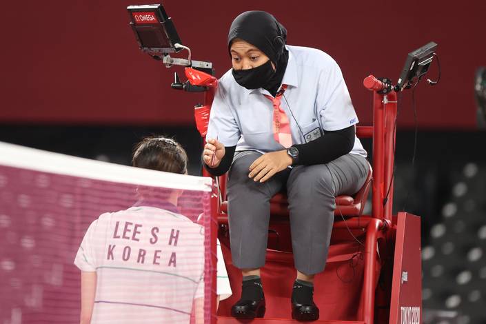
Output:
<instances>
[{"instance_id":1,"label":"black hijab around the umpire's head","mask_svg":"<svg viewBox=\"0 0 486 324\"><path fill-rule=\"evenodd\" d=\"M273 96L282 83L289 52L285 49L287 30L265 11L247 11L240 14L231 24L227 37L228 51L234 39L243 39L259 48L274 63L276 71L263 86Z\"/></svg>"}]
</instances>

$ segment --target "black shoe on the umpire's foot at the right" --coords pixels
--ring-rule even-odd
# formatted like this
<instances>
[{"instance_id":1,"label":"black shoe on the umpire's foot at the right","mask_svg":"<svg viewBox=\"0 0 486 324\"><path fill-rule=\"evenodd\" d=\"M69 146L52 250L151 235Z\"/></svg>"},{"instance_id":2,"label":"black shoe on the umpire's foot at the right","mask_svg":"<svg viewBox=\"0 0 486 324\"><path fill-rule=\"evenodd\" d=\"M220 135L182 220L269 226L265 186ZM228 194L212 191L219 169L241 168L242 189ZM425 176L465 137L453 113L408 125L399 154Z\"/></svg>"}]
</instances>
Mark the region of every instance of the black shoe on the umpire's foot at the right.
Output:
<instances>
[{"instance_id":1,"label":"black shoe on the umpire's foot at the right","mask_svg":"<svg viewBox=\"0 0 486 324\"><path fill-rule=\"evenodd\" d=\"M292 318L297 321L316 321L319 319L319 309L312 300L314 287L294 283L292 291Z\"/></svg>"}]
</instances>

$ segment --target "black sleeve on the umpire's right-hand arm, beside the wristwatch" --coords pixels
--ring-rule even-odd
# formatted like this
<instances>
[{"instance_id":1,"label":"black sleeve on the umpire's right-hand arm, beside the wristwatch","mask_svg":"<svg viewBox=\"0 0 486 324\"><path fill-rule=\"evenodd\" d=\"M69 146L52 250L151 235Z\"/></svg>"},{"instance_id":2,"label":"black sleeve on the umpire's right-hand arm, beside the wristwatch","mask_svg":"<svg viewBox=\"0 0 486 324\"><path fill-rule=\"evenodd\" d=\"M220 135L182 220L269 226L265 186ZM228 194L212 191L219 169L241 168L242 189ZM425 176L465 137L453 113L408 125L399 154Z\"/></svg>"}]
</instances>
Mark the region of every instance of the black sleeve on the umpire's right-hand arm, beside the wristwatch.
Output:
<instances>
[{"instance_id":1,"label":"black sleeve on the umpire's right-hand arm, beside the wristwatch","mask_svg":"<svg viewBox=\"0 0 486 324\"><path fill-rule=\"evenodd\" d=\"M305 144L292 145L298 150L298 165L323 164L351 152L354 125L342 130L324 131L324 135Z\"/></svg>"}]
</instances>

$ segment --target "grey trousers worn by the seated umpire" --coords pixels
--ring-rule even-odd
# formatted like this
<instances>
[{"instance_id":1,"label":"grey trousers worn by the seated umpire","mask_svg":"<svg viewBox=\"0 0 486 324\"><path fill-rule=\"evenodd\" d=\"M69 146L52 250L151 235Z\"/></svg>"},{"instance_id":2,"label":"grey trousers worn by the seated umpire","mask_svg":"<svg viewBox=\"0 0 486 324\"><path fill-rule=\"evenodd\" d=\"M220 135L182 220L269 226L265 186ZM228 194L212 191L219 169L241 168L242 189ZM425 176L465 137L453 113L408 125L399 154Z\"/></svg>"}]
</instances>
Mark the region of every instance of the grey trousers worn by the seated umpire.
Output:
<instances>
[{"instance_id":1,"label":"grey trousers worn by the seated umpire","mask_svg":"<svg viewBox=\"0 0 486 324\"><path fill-rule=\"evenodd\" d=\"M322 272L334 223L335 197L355 194L365 183L369 164L347 154L327 163L298 165L265 183L248 178L250 165L261 156L236 152L227 183L232 261L240 269L265 265L270 199L287 191L294 263L303 274Z\"/></svg>"}]
</instances>

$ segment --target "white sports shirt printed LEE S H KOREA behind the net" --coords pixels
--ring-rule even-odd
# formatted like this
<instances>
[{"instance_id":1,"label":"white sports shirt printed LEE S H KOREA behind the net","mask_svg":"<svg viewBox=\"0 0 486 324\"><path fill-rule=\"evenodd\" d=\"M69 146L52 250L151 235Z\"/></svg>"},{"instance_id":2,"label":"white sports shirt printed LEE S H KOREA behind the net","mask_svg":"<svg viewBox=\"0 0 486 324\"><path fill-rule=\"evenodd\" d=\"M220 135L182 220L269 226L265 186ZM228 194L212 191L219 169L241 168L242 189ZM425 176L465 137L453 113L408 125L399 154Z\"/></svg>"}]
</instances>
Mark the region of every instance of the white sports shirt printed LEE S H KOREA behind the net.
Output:
<instances>
[{"instance_id":1,"label":"white sports shirt printed LEE S H KOREA behind the net","mask_svg":"<svg viewBox=\"0 0 486 324\"><path fill-rule=\"evenodd\" d=\"M92 323L189 323L204 296L203 227L158 207L102 214L74 264L97 272Z\"/></svg>"}]
</instances>

